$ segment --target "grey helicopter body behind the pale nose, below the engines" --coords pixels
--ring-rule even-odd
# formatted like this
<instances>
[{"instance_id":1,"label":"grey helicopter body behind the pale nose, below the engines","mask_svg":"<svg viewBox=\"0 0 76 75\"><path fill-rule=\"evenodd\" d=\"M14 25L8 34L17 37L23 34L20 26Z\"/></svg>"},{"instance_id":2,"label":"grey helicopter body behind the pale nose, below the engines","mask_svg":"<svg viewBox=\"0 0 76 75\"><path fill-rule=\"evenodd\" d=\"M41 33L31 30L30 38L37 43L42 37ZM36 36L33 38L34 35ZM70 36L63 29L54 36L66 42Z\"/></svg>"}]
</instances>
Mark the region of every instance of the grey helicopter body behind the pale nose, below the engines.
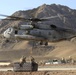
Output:
<instances>
[{"instance_id":1,"label":"grey helicopter body behind the pale nose, below the engines","mask_svg":"<svg viewBox=\"0 0 76 75\"><path fill-rule=\"evenodd\" d=\"M56 42L76 36L76 34L70 33L69 31L64 32L64 31L56 31L53 29L18 30L17 32L18 33L14 33L14 35L18 39L47 41L47 42Z\"/></svg>"}]
</instances>

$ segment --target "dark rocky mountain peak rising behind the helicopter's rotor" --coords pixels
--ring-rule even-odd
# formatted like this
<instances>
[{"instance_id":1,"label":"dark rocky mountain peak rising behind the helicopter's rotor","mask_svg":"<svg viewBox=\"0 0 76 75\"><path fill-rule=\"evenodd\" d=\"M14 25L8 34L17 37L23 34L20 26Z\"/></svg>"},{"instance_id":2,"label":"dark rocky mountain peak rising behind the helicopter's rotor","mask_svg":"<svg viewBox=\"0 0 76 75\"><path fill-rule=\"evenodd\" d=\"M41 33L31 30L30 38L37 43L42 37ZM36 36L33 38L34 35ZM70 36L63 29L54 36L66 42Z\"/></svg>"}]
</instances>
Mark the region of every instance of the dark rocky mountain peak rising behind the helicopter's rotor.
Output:
<instances>
[{"instance_id":1,"label":"dark rocky mountain peak rising behind the helicopter's rotor","mask_svg":"<svg viewBox=\"0 0 76 75\"><path fill-rule=\"evenodd\" d=\"M31 10L20 10L12 14L12 16L24 17L24 18L42 18L51 17L58 15L58 18L51 19L50 22L46 24L55 24L61 27L76 28L76 10L71 9L67 6L62 5L46 5L43 4L38 8ZM26 24L24 21L0 21L0 33L2 33L6 28L13 25Z\"/></svg>"}]
</instances>

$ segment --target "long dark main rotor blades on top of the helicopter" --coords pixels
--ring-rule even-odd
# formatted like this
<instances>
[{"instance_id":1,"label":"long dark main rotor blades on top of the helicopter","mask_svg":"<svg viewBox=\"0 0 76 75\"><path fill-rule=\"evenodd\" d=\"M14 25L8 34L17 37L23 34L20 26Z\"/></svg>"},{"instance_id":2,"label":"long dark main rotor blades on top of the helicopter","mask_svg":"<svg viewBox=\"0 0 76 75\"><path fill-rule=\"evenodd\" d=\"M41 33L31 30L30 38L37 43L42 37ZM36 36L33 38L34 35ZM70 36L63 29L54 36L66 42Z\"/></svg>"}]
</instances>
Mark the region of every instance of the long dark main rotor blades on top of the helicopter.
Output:
<instances>
[{"instance_id":1,"label":"long dark main rotor blades on top of the helicopter","mask_svg":"<svg viewBox=\"0 0 76 75\"><path fill-rule=\"evenodd\" d=\"M6 19L3 19L3 20L24 20L24 21L35 21L35 22L38 22L38 21L47 21L47 20L50 20L52 18L56 18L58 17L57 16L51 16L51 17L44 17L44 18L23 18L23 17L17 17L17 16L8 16L8 15L3 15L3 14L0 14L0 16L4 16L4 17L8 17Z\"/></svg>"}]
</instances>

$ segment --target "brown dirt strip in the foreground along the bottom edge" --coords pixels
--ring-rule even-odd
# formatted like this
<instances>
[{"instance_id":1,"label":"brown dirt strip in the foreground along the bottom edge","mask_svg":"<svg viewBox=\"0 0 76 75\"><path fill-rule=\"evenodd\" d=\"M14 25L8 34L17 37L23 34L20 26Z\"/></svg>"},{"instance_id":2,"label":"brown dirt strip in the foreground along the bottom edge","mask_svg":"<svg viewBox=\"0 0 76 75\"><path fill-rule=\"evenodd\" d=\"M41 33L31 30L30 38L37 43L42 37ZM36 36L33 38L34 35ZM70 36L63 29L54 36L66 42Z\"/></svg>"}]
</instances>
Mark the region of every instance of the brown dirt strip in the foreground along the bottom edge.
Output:
<instances>
[{"instance_id":1,"label":"brown dirt strip in the foreground along the bottom edge","mask_svg":"<svg viewBox=\"0 0 76 75\"><path fill-rule=\"evenodd\" d=\"M0 72L0 75L76 75L76 71Z\"/></svg>"}]
</instances>

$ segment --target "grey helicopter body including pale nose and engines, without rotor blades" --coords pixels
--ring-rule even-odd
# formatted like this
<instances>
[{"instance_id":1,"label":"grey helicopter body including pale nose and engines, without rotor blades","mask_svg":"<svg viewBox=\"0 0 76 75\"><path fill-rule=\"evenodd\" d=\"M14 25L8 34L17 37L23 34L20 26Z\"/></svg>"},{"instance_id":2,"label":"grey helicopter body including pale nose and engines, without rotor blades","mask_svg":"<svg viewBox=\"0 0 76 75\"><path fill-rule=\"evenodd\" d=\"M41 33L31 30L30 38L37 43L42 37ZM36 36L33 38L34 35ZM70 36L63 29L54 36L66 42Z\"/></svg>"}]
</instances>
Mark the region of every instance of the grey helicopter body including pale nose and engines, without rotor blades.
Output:
<instances>
[{"instance_id":1,"label":"grey helicopter body including pale nose and engines, without rotor blades","mask_svg":"<svg viewBox=\"0 0 76 75\"><path fill-rule=\"evenodd\" d=\"M38 29L33 28L32 25L22 25L18 29L8 28L4 32L5 38L15 38L21 40L35 40L43 42L57 42L65 39L70 39L76 36L76 32L70 29L60 28L55 25L51 25L50 29Z\"/></svg>"}]
</instances>

